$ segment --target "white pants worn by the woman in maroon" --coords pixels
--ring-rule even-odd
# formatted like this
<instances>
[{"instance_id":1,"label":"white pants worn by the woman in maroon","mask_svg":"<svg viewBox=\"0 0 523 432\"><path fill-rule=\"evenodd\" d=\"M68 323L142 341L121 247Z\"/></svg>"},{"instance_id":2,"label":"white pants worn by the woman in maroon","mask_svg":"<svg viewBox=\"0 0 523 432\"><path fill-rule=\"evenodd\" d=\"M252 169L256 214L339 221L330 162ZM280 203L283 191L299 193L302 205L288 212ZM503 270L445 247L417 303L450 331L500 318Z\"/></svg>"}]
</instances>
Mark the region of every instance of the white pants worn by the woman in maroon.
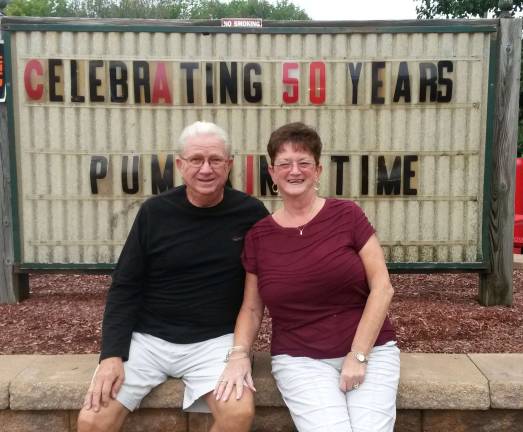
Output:
<instances>
[{"instance_id":1,"label":"white pants worn by the woman in maroon","mask_svg":"<svg viewBox=\"0 0 523 432\"><path fill-rule=\"evenodd\" d=\"M363 384L339 388L344 358L277 355L272 373L299 432L392 432L400 376L395 342L372 349Z\"/></svg>"}]
</instances>

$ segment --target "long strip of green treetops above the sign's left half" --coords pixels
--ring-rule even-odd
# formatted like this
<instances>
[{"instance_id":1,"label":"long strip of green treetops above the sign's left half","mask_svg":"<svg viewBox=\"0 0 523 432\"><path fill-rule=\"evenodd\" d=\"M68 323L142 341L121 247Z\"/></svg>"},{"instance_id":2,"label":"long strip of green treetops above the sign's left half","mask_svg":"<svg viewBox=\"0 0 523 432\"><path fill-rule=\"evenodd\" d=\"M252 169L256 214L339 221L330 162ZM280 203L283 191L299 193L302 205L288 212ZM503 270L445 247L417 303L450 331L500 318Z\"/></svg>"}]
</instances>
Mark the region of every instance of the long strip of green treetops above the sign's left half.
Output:
<instances>
[{"instance_id":1,"label":"long strip of green treetops above the sign's left half","mask_svg":"<svg viewBox=\"0 0 523 432\"><path fill-rule=\"evenodd\" d=\"M2 0L0 0L2 1ZM91 18L307 20L290 0L12 0L7 15Z\"/></svg>"}]
</instances>

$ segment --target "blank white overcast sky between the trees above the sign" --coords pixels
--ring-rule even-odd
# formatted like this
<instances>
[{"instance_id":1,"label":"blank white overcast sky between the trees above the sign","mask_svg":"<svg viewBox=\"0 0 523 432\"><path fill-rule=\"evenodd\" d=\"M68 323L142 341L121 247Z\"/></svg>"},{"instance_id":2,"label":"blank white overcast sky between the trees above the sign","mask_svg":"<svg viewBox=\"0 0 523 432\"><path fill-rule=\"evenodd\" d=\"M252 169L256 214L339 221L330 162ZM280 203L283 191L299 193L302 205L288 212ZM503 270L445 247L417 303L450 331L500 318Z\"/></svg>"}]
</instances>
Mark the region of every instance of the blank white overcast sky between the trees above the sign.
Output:
<instances>
[{"instance_id":1,"label":"blank white overcast sky between the trees above the sign","mask_svg":"<svg viewBox=\"0 0 523 432\"><path fill-rule=\"evenodd\" d=\"M414 0L291 0L313 20L416 19Z\"/></svg>"}]
</instances>

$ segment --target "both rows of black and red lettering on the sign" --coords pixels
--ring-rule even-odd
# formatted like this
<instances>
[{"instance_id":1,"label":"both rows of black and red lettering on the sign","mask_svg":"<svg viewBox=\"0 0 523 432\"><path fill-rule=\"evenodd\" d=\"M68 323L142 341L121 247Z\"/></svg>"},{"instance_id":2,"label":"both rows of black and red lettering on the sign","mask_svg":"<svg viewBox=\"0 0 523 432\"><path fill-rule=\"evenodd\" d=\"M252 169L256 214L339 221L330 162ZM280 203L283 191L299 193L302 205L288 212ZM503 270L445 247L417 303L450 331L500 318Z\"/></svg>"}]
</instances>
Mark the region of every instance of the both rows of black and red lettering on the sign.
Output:
<instances>
[{"instance_id":1,"label":"both rows of black and red lettering on the sign","mask_svg":"<svg viewBox=\"0 0 523 432\"><path fill-rule=\"evenodd\" d=\"M340 83L334 77L336 70L341 68L346 72L346 97L342 101L330 100L336 94L329 91L329 87L339 87ZM112 107L155 106L164 109L198 109L204 106L229 109L234 106L246 109L249 106L258 109L265 106L274 109L274 106L280 106L281 109L326 107L343 111L358 107L369 109L388 106L392 109L392 106L449 104L453 100L454 68L452 60L357 61L344 64L332 60L302 60L282 61L278 65L266 61L174 63L32 58L24 62L23 78L25 102L48 104L47 106L58 104L73 108L83 104L90 107L101 104ZM264 80L264 73L269 75L270 81ZM275 84L275 80L279 85ZM268 81L268 88L264 86L264 81ZM365 91L365 83L369 83L370 91ZM241 149L238 151L241 153ZM173 154L163 158L163 166L159 163L162 154L153 154L150 166L141 166L140 159L144 156L123 155L119 158L121 170L116 174L122 179L122 194L140 193L140 189L146 187L141 183L147 178L147 172L151 189L143 190L142 194L157 194L173 187ZM255 155L245 156L247 166L244 189L252 194ZM369 193L373 194L372 190L375 195L417 195L419 156L387 156L390 155L361 156L360 189L357 196L369 196ZM335 165L336 170L335 190L329 190L329 193L347 195L344 193L343 178L344 171L348 170L350 156L332 154L329 162ZM375 184L369 190L370 163L377 167L377 172L374 176ZM259 156L257 164L266 164L265 157ZM111 180L114 174L109 171L107 155L93 155L89 166L91 192L98 194L102 181L114 183ZM258 195L266 196L266 183L270 186L266 171L258 180ZM354 194L351 197L355 198Z\"/></svg>"}]
</instances>

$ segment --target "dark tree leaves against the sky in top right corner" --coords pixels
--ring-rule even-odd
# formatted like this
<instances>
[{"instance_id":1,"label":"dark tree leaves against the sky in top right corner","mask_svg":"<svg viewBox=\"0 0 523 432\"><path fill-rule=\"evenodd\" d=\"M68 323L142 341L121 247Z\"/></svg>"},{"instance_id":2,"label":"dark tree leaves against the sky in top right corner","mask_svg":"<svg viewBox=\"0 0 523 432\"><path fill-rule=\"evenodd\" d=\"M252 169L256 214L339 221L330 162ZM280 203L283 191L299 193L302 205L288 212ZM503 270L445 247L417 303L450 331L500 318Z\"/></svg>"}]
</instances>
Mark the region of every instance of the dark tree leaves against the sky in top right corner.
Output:
<instances>
[{"instance_id":1,"label":"dark tree leaves against the sky in top right corner","mask_svg":"<svg viewBox=\"0 0 523 432\"><path fill-rule=\"evenodd\" d=\"M499 0L416 0L419 19L481 18L490 12L498 16ZM512 2L512 14L523 10L523 1Z\"/></svg>"}]
</instances>

